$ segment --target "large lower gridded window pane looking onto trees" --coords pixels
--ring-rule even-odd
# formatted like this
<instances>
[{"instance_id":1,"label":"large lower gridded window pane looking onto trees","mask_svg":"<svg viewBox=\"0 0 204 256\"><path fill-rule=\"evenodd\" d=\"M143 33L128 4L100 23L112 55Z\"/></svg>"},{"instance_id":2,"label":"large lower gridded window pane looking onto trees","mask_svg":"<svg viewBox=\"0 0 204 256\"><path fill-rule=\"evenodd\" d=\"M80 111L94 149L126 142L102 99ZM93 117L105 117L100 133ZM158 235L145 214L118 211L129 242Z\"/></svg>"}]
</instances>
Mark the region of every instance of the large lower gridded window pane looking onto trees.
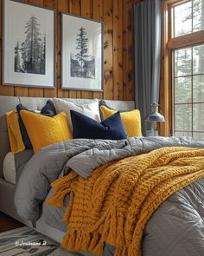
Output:
<instances>
[{"instance_id":1,"label":"large lower gridded window pane looking onto trees","mask_svg":"<svg viewBox=\"0 0 204 256\"><path fill-rule=\"evenodd\" d=\"M204 141L204 44L172 54L174 133Z\"/></svg>"}]
</instances>

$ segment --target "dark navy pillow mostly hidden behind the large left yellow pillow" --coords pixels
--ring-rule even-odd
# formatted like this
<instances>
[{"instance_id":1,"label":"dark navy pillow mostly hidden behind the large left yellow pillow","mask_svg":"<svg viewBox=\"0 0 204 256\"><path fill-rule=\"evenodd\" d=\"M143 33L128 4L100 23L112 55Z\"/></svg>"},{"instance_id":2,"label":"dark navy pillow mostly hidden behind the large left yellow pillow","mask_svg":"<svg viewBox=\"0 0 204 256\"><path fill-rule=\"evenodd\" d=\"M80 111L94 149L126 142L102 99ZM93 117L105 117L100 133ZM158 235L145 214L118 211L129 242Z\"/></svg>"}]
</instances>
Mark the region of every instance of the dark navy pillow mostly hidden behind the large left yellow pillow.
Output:
<instances>
[{"instance_id":1,"label":"dark navy pillow mostly hidden behind the large left yellow pillow","mask_svg":"<svg viewBox=\"0 0 204 256\"><path fill-rule=\"evenodd\" d=\"M16 106L16 110L17 110L18 115L19 115L18 121L19 121L20 129L21 129L22 141L23 141L26 148L32 149L33 148L32 143L29 140L29 135L27 133L25 125L22 121L22 117L20 115L20 111L22 109L30 111L30 112L34 112L34 113L35 113L35 110L29 110L29 108L26 108L26 107L22 106L22 104L18 104ZM51 102L50 100L48 100L46 105L43 108L41 108L41 115L47 115L47 116L50 116L50 117L56 115L56 109L54 108L54 103Z\"/></svg>"}]
</instances>

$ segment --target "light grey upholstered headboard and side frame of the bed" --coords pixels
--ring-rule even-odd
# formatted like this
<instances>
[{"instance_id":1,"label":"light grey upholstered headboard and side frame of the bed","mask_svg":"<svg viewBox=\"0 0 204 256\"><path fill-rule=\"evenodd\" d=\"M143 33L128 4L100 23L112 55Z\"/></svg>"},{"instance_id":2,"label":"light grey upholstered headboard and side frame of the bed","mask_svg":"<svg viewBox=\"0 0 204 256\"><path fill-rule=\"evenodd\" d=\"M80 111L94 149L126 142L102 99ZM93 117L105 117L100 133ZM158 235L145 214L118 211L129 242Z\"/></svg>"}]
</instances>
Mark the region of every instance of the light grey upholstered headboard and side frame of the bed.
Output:
<instances>
[{"instance_id":1,"label":"light grey upholstered headboard and side frame of the bed","mask_svg":"<svg viewBox=\"0 0 204 256\"><path fill-rule=\"evenodd\" d=\"M90 102L88 99L67 100L69 102L80 104ZM0 211L31 227L33 227L32 222L22 220L22 218L20 218L16 213L16 208L14 206L15 186L3 179L3 160L6 154L10 152L10 141L7 133L5 114L11 110L16 109L16 105L20 102L30 109L40 110L47 101L48 98L0 96ZM135 102L131 101L106 102L110 107L115 109L131 110L135 108ZM58 242L61 242L61 239L64 235L61 230L53 228L52 226L48 226L45 223L43 213L41 215L41 219L36 223L36 230Z\"/></svg>"}]
</instances>

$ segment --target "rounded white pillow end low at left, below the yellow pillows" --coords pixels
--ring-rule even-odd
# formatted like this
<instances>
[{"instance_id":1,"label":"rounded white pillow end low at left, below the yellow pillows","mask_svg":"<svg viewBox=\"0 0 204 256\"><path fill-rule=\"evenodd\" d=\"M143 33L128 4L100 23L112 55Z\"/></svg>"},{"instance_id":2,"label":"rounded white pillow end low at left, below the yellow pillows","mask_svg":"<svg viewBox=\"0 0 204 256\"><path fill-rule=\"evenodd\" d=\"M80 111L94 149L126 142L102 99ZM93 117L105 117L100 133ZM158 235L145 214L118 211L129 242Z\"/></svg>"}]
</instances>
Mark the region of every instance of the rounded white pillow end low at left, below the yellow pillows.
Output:
<instances>
[{"instance_id":1,"label":"rounded white pillow end low at left, below the yellow pillows","mask_svg":"<svg viewBox=\"0 0 204 256\"><path fill-rule=\"evenodd\" d=\"M6 181L16 184L16 167L12 152L6 154L3 160L3 177Z\"/></svg>"}]
</instances>

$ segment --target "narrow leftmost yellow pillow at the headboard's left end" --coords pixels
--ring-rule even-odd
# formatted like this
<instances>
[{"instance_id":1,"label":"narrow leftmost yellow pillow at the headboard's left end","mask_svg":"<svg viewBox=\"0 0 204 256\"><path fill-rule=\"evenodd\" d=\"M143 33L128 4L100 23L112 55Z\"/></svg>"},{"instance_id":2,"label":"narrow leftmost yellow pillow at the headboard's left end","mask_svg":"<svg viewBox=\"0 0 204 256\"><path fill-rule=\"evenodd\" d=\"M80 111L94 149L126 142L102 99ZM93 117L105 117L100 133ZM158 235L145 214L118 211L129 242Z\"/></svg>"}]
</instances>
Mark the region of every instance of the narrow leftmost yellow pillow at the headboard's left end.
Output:
<instances>
[{"instance_id":1,"label":"narrow leftmost yellow pillow at the headboard's left end","mask_svg":"<svg viewBox=\"0 0 204 256\"><path fill-rule=\"evenodd\" d=\"M18 153L25 149L22 141L22 134L19 127L16 111L6 113L7 129L10 138L10 148L12 153Z\"/></svg>"}]
</instances>

